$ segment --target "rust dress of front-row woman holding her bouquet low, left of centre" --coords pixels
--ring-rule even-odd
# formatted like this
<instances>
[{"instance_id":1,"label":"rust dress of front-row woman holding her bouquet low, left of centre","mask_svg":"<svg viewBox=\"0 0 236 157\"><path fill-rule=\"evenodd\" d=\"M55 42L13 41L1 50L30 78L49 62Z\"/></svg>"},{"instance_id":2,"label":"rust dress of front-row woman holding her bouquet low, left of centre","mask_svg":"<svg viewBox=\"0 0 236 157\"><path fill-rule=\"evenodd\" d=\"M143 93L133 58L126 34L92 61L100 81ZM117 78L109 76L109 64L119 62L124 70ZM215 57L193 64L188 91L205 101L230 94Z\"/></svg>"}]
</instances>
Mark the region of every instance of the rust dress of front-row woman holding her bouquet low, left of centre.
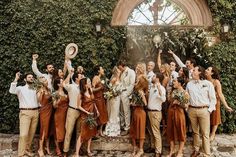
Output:
<instances>
[{"instance_id":1,"label":"rust dress of front-row woman holding her bouquet low, left of centre","mask_svg":"<svg viewBox=\"0 0 236 157\"><path fill-rule=\"evenodd\" d=\"M82 98L82 105L81 105L86 111L88 112L93 112L94 116L96 116L96 110L95 110L95 101L94 99L88 98L84 96ZM80 135L81 135L81 141L87 141L90 138L96 136L97 133L97 127L92 127L85 122L85 119L88 117L88 114L81 112L81 117L80 117Z\"/></svg>"}]
</instances>

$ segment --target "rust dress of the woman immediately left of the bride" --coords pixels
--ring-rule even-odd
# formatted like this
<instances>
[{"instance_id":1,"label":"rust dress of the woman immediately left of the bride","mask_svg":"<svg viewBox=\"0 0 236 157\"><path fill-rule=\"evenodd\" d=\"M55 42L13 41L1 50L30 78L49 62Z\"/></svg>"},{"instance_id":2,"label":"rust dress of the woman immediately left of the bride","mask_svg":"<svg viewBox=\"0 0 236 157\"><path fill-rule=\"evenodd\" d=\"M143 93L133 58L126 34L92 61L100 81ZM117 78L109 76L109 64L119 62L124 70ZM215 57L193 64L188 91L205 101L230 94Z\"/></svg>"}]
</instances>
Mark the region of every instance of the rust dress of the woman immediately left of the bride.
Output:
<instances>
[{"instance_id":1,"label":"rust dress of the woman immediately left of the bride","mask_svg":"<svg viewBox=\"0 0 236 157\"><path fill-rule=\"evenodd\" d=\"M95 88L102 87L102 89L94 92L94 100L98 108L98 112L100 113L98 117L98 124L103 125L108 122L108 111L107 111L107 106L106 106L106 100L104 99L103 93L104 93L104 88L103 84L99 82Z\"/></svg>"}]
</instances>

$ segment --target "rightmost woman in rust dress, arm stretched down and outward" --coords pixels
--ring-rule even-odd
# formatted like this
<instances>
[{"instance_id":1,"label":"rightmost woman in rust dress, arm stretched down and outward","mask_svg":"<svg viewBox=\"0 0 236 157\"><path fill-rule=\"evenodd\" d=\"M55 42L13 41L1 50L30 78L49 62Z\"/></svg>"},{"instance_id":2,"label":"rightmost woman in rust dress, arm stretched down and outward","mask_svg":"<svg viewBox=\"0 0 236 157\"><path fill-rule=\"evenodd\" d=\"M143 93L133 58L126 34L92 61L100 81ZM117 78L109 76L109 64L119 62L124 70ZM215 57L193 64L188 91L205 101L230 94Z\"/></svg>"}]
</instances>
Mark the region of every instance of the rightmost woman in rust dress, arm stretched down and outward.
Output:
<instances>
[{"instance_id":1,"label":"rightmost woman in rust dress, arm stretched down and outward","mask_svg":"<svg viewBox=\"0 0 236 157\"><path fill-rule=\"evenodd\" d=\"M219 124L221 124L221 114L220 114L220 101L223 103L225 109L228 112L232 112L233 109L228 106L224 94L222 93L222 87L220 83L220 75L219 71L216 67L208 67L205 71L205 75L208 81L211 81L215 87L216 91L216 110L211 113L211 133L210 140L213 141L215 139L215 133Z\"/></svg>"}]
</instances>

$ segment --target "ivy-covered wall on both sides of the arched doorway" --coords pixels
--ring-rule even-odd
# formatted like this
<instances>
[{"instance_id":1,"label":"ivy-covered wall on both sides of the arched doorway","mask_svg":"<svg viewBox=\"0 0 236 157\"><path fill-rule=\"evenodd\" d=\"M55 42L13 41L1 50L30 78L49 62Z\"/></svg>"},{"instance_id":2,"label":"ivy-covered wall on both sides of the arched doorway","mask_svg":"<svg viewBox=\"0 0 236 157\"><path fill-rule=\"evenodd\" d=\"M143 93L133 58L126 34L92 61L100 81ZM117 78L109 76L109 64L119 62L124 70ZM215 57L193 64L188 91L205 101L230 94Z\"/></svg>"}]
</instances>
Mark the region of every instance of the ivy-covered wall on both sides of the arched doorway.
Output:
<instances>
[{"instance_id":1,"label":"ivy-covered wall on both sides of the arched doorway","mask_svg":"<svg viewBox=\"0 0 236 157\"><path fill-rule=\"evenodd\" d=\"M221 34L221 24L228 22L231 31L225 42L199 51L203 66L215 65L221 71L223 92L230 106L236 109L236 3L234 0L206 0L214 25L211 31ZM39 69L52 62L62 68L68 43L79 47L73 65L85 67L88 75L96 64L110 71L125 51L124 27L110 27L117 0L2 0L0 1L0 132L18 132L18 102L8 90L16 70L31 71L31 55L39 54ZM227 21L225 21L227 20ZM100 22L102 32L96 33ZM179 52L181 53L181 52ZM222 109L219 131L236 132L235 114Z\"/></svg>"}]
</instances>

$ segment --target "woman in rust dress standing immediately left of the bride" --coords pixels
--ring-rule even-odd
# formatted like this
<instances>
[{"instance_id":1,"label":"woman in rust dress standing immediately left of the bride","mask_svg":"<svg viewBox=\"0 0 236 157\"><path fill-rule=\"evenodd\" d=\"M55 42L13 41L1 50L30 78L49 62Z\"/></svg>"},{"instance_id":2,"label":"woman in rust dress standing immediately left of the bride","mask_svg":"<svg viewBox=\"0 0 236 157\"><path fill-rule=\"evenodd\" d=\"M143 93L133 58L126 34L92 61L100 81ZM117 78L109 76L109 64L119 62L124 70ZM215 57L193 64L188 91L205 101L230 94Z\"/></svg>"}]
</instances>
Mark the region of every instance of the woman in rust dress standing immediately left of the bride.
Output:
<instances>
[{"instance_id":1,"label":"woman in rust dress standing immediately left of the bride","mask_svg":"<svg viewBox=\"0 0 236 157\"><path fill-rule=\"evenodd\" d=\"M94 68L94 74L92 80L92 86L93 86L93 94L94 94L94 100L98 108L98 112L101 113L98 117L98 125L99 125L99 134L101 136L104 136L102 133L103 125L108 122L108 111L106 107L106 100L104 99L104 91L105 86L104 82L102 82L101 78L104 76L104 69L101 66L96 66ZM104 80L103 80L104 81Z\"/></svg>"}]
</instances>

